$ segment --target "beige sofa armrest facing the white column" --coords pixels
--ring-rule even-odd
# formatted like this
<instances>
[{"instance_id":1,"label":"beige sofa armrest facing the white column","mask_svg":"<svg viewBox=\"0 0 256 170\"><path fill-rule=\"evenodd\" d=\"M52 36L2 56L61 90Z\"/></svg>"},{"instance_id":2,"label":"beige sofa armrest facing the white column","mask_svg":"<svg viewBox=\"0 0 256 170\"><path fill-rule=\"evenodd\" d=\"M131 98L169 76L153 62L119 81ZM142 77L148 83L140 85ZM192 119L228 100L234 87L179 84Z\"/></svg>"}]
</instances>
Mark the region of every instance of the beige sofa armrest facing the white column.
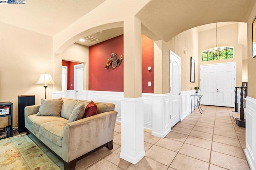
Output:
<instances>
[{"instance_id":1,"label":"beige sofa armrest facing the white column","mask_svg":"<svg viewBox=\"0 0 256 170\"><path fill-rule=\"evenodd\" d=\"M86 117L64 128L62 158L70 162L114 138L117 111L107 111Z\"/></svg>"}]
</instances>

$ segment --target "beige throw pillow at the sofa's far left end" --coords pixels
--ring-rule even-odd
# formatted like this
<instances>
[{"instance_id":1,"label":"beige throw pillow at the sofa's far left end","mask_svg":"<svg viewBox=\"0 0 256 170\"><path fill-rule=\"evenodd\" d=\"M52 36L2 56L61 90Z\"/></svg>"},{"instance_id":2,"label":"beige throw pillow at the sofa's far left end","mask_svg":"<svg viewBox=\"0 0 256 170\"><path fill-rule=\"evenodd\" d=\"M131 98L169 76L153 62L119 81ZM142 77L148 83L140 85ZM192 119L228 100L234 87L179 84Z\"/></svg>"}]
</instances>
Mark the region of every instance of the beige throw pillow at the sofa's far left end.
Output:
<instances>
[{"instance_id":1,"label":"beige throw pillow at the sofa's far left end","mask_svg":"<svg viewBox=\"0 0 256 170\"><path fill-rule=\"evenodd\" d=\"M41 105L39 107L37 116L60 116L63 100L47 100L41 99Z\"/></svg>"}]
</instances>

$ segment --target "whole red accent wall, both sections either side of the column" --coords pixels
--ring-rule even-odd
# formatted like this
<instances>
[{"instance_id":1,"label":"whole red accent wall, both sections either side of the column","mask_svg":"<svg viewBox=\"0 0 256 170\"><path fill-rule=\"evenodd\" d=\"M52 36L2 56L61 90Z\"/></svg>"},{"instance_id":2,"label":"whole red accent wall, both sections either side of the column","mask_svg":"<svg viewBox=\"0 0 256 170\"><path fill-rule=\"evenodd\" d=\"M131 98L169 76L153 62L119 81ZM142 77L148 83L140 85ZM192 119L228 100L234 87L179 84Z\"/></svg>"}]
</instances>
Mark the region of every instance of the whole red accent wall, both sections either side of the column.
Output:
<instances>
[{"instance_id":1,"label":"whole red accent wall, both sections either side of the column","mask_svg":"<svg viewBox=\"0 0 256 170\"><path fill-rule=\"evenodd\" d=\"M124 91L124 62L106 70L107 59L112 53L117 58L124 55L124 36L120 35L89 47L89 90ZM149 71L148 66L152 69ZM154 41L142 34L142 93L154 93ZM151 87L148 87L151 82Z\"/></svg>"}]
</instances>

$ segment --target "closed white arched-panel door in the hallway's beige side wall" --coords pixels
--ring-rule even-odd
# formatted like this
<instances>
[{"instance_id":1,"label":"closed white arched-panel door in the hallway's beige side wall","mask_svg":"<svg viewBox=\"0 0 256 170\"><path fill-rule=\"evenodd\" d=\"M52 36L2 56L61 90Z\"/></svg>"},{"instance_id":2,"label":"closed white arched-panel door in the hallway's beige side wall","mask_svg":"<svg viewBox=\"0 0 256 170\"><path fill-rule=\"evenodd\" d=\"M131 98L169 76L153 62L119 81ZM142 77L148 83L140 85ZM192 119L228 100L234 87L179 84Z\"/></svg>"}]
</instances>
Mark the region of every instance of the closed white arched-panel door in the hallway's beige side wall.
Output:
<instances>
[{"instance_id":1,"label":"closed white arched-panel door in the hallway's beige side wall","mask_svg":"<svg viewBox=\"0 0 256 170\"><path fill-rule=\"evenodd\" d=\"M180 121L180 57L170 51L170 127Z\"/></svg>"}]
</instances>

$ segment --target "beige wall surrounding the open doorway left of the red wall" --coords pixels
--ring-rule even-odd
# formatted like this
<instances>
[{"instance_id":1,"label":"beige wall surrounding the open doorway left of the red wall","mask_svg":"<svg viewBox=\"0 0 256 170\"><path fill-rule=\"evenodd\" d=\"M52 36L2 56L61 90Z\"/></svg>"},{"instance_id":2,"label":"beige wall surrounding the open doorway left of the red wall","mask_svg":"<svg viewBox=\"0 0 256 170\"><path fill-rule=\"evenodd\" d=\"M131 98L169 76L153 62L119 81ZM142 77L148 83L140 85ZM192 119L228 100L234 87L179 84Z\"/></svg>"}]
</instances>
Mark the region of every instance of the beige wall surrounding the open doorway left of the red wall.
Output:
<instances>
[{"instance_id":1,"label":"beige wall surrounding the open doorway left of the red wall","mask_svg":"<svg viewBox=\"0 0 256 170\"><path fill-rule=\"evenodd\" d=\"M55 55L55 62L54 62L54 71L55 71L55 83L54 91L61 91L62 90L62 60L66 61L74 61L78 63L84 64L84 90L88 90L88 82L89 82L89 48L74 43L70 45L63 53L60 55Z\"/></svg>"}]
</instances>

